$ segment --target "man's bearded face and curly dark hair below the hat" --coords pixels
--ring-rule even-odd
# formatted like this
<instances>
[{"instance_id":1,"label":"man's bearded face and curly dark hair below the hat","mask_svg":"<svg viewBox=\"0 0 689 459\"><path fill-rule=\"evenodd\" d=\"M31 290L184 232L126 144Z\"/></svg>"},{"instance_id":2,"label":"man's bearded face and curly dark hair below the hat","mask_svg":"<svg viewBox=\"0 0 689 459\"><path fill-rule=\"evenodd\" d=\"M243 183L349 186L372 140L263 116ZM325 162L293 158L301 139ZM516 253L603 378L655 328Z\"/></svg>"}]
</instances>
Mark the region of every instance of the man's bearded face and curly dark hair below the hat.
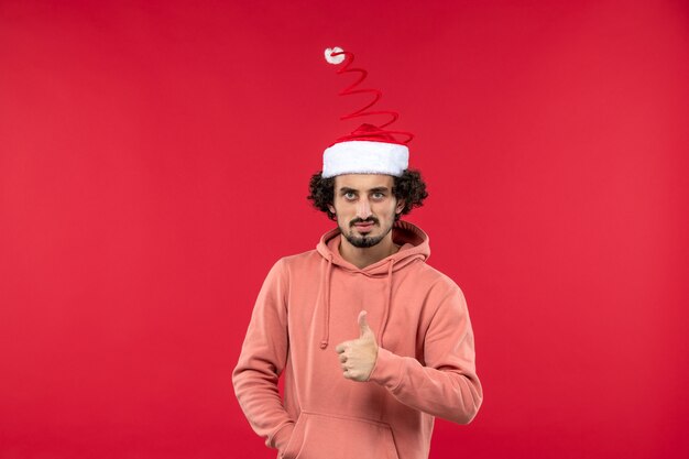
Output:
<instances>
[{"instance_id":1,"label":"man's bearded face and curly dark hair below the hat","mask_svg":"<svg viewBox=\"0 0 689 459\"><path fill-rule=\"evenodd\" d=\"M428 196L420 173L413 170L400 177L343 174L324 178L318 172L310 179L309 190L314 207L336 220L349 242L360 248L379 243L400 216L423 206Z\"/></svg>"}]
</instances>

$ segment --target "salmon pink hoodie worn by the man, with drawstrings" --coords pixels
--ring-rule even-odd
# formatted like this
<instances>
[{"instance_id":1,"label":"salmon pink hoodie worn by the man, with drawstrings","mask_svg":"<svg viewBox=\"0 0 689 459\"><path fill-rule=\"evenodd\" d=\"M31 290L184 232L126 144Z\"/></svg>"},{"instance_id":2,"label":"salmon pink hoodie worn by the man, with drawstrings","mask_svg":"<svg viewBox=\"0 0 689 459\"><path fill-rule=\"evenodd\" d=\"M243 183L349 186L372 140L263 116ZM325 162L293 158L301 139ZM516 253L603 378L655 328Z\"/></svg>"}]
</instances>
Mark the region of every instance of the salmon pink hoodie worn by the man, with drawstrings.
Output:
<instances>
[{"instance_id":1,"label":"salmon pink hoodie worn by the man, with drawstrings","mask_svg":"<svg viewBox=\"0 0 689 459\"><path fill-rule=\"evenodd\" d=\"M400 250L363 269L340 256L340 238L333 229L271 269L232 375L237 398L282 459L425 459L434 416L467 424L483 398L467 303L426 264L418 227L395 222ZM367 382L344 379L335 351L359 337L361 310L380 347Z\"/></svg>"}]
</instances>

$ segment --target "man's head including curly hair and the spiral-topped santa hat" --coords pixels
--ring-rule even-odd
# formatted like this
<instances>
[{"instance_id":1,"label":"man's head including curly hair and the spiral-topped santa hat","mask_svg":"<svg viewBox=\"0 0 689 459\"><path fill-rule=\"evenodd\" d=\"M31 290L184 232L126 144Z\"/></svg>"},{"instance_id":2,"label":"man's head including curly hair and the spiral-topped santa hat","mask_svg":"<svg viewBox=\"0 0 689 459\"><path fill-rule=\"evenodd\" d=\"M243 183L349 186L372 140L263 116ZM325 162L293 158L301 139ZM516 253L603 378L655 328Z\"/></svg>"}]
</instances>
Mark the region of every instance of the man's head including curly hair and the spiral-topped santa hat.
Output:
<instances>
[{"instance_id":1,"label":"man's head including curly hair and the spiral-topped santa hat","mask_svg":"<svg viewBox=\"0 0 689 459\"><path fill-rule=\"evenodd\" d=\"M390 130L389 127L397 120L396 111L369 110L382 92L379 89L354 90L368 73L362 68L349 68L353 59L351 52L340 47L326 50L329 64L342 64L338 74L361 73L359 80L340 91L341 96L370 92L374 97L363 108L340 119L369 114L387 114L390 119L381 124L363 123L331 143L322 154L322 171L311 177L308 198L314 207L337 220L352 245L368 248L385 239L400 216L422 206L428 195L418 171L408 170L407 144L414 134Z\"/></svg>"}]
</instances>

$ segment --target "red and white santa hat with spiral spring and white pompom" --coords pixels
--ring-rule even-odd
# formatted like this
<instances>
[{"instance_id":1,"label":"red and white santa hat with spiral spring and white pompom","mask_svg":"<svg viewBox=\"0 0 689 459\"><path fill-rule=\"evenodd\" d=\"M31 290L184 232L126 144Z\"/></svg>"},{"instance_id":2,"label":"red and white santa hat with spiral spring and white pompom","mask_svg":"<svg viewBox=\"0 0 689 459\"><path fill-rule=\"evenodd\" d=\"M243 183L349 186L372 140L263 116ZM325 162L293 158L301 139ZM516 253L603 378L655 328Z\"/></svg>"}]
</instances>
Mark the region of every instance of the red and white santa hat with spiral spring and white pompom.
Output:
<instances>
[{"instance_id":1,"label":"red and white santa hat with spiral spring and white pompom","mask_svg":"<svg viewBox=\"0 0 689 459\"><path fill-rule=\"evenodd\" d=\"M333 65L344 65L337 73L358 72L360 77L352 85L340 91L340 96L352 94L372 94L373 100L363 108L340 117L341 120L363 117L368 114L389 114L391 119L380 125L364 123L352 133L337 139L322 154L324 178L342 174L386 174L401 176L409 162L409 149L407 143L414 139L414 134L406 131L391 131L384 129L392 124L398 117L391 110L367 111L381 98L382 92L378 89L354 89L368 75L362 68L349 68L354 61L354 55L340 47L327 48L326 61ZM395 135L404 135L400 140Z\"/></svg>"}]
</instances>

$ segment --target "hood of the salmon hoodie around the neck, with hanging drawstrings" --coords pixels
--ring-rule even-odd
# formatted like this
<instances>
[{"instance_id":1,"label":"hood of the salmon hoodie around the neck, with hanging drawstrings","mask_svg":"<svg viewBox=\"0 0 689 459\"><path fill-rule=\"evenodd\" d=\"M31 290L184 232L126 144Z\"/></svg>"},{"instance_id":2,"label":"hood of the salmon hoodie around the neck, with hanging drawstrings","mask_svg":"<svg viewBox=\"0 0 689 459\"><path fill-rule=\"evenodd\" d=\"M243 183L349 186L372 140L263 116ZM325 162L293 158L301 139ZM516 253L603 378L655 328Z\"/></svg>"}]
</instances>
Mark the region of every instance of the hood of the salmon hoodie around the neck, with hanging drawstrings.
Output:
<instances>
[{"instance_id":1,"label":"hood of the salmon hoodie around the neck, with hanging drawstrings","mask_svg":"<svg viewBox=\"0 0 689 459\"><path fill-rule=\"evenodd\" d=\"M425 262L428 256L430 256L429 238L420 228L408 221L395 221L392 229L392 239L393 242L400 245L400 250L365 267L357 267L340 255L339 248L341 238L340 229L335 228L326 232L316 247L318 253L328 262L326 275L321 277L324 283L321 288L324 298L320 305L325 308L325 314L320 349L328 347L330 335L330 276L333 266L351 273L360 273L369 277L381 277L386 282L383 321L378 332L378 345L382 347L383 334L385 332L387 317L390 315L390 303L392 302L392 275L395 271L402 270L411 263L416 261Z\"/></svg>"}]
</instances>

